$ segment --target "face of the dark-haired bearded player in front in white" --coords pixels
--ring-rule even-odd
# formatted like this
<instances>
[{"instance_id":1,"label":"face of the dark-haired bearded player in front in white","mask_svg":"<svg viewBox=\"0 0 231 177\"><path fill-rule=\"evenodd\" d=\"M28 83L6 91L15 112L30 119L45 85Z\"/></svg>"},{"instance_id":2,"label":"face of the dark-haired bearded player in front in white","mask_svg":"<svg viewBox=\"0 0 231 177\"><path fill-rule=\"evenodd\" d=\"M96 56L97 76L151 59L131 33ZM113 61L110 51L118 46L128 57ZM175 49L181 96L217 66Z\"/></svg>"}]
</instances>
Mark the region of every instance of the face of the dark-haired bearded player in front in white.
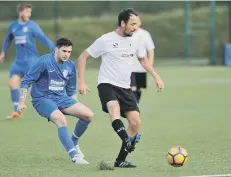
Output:
<instances>
[{"instance_id":1,"label":"face of the dark-haired bearded player in front in white","mask_svg":"<svg viewBox=\"0 0 231 177\"><path fill-rule=\"evenodd\" d=\"M132 36L132 34L138 29L138 26L139 18L133 14L130 16L127 24L122 24L122 27L124 28L124 33L128 36Z\"/></svg>"}]
</instances>

